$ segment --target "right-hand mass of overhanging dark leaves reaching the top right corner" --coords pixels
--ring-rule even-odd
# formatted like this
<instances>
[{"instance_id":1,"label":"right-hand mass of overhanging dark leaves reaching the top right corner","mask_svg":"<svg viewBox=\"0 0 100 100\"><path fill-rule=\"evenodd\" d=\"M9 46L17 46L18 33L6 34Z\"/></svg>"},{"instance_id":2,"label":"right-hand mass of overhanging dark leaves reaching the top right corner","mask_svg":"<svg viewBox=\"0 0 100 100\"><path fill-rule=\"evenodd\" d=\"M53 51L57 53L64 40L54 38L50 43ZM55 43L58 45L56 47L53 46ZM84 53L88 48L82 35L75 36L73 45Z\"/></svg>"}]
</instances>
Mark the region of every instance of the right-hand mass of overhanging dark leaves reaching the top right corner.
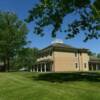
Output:
<instances>
[{"instance_id":1,"label":"right-hand mass of overhanging dark leaves reaching the top right corner","mask_svg":"<svg viewBox=\"0 0 100 100\"><path fill-rule=\"evenodd\" d=\"M99 3L97 0L90 5L88 10L85 8L79 11L80 19L75 20L68 26L69 33L66 38L75 37L81 30L85 34L84 42L93 38L100 38L100 12L98 5L96 6L97 2Z\"/></svg>"}]
</instances>

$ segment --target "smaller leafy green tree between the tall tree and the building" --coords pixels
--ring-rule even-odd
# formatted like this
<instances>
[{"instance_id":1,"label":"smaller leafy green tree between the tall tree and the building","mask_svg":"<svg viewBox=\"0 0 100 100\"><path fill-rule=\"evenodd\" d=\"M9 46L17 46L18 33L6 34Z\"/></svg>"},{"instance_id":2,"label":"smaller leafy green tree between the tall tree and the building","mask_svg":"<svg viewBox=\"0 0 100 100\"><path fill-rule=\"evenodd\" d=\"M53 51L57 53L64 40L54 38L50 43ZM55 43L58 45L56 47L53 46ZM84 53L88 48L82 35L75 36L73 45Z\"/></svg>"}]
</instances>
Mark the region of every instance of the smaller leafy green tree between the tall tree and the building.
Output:
<instances>
[{"instance_id":1,"label":"smaller leafy green tree between the tall tree and the building","mask_svg":"<svg viewBox=\"0 0 100 100\"><path fill-rule=\"evenodd\" d=\"M22 48L17 55L12 59L12 70L19 70L21 68L32 69L38 56L37 48Z\"/></svg>"}]
</instances>

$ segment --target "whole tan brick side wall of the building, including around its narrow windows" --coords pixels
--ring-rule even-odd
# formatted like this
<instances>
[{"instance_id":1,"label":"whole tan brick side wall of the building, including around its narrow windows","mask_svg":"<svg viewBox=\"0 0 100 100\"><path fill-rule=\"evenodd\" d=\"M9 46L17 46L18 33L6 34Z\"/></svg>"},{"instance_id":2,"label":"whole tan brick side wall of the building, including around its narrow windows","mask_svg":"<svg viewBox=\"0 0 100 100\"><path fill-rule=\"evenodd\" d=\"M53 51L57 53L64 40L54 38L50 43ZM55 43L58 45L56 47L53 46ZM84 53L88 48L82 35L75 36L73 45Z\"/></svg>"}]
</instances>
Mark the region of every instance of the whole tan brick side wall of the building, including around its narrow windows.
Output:
<instances>
[{"instance_id":1,"label":"whole tan brick side wall of the building, including around its narrow windows","mask_svg":"<svg viewBox=\"0 0 100 100\"><path fill-rule=\"evenodd\" d=\"M88 71L88 61L87 53L75 56L73 52L54 52L54 71Z\"/></svg>"}]
</instances>

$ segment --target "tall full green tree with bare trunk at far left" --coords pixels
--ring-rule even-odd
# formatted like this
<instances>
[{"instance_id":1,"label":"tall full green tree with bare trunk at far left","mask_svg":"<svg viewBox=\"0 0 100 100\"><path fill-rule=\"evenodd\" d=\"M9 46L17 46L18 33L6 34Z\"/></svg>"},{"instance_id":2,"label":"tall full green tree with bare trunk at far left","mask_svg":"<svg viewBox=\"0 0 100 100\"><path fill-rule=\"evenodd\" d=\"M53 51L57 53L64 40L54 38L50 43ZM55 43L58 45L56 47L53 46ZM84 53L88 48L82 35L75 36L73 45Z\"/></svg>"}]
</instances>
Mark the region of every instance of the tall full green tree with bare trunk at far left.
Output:
<instances>
[{"instance_id":1,"label":"tall full green tree with bare trunk at far left","mask_svg":"<svg viewBox=\"0 0 100 100\"><path fill-rule=\"evenodd\" d=\"M0 12L0 59L10 70L11 58L26 45L28 29L15 13Z\"/></svg>"}]
</instances>

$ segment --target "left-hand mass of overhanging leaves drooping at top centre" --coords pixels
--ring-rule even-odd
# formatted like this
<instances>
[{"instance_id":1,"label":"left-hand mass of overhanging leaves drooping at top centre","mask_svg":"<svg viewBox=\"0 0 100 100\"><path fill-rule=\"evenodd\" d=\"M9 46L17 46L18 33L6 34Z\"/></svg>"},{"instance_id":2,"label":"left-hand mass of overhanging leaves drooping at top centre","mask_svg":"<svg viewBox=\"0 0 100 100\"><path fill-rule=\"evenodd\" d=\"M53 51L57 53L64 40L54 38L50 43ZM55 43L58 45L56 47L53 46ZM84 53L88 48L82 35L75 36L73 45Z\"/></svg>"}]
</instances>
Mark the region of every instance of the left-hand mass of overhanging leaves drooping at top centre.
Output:
<instances>
[{"instance_id":1,"label":"left-hand mass of overhanging leaves drooping at top centre","mask_svg":"<svg viewBox=\"0 0 100 100\"><path fill-rule=\"evenodd\" d=\"M68 2L69 4L67 4ZM70 0L41 0L39 4L29 11L27 22L35 22L34 32L38 35L43 34L45 26L52 25L54 27L52 36L55 37L64 16L72 12L73 8L70 5Z\"/></svg>"}]
</instances>

